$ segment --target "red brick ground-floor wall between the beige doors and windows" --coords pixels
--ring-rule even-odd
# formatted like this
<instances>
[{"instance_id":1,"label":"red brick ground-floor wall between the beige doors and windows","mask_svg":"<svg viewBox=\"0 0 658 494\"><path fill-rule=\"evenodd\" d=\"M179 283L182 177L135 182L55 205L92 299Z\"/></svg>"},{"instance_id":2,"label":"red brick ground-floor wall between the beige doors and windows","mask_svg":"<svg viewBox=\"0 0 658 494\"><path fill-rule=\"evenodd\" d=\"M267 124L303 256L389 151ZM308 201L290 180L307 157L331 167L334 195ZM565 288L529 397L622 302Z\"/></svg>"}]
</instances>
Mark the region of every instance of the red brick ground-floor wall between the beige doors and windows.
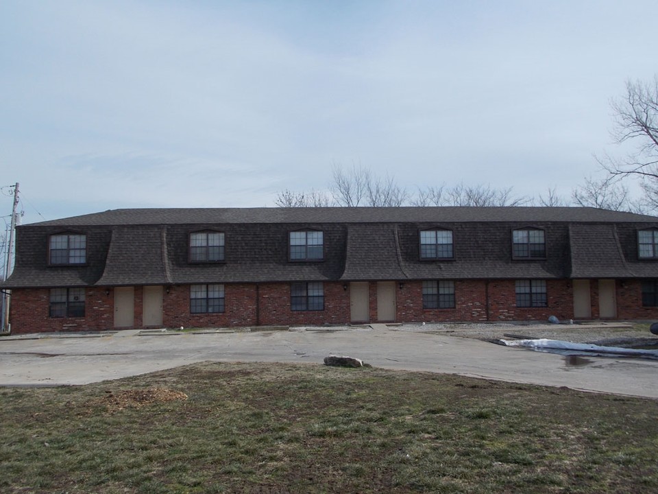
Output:
<instances>
[{"instance_id":1,"label":"red brick ground-floor wall between the beige doors and windows","mask_svg":"<svg viewBox=\"0 0 658 494\"><path fill-rule=\"evenodd\" d=\"M378 285L369 283L369 317L378 318ZM514 280L464 280L454 282L455 307L424 309L422 282L395 282L396 322L502 322L543 321L549 316L574 318L572 282L546 281L547 307L516 307ZM619 319L655 320L658 307L642 307L641 283L616 281L616 316ZM593 319L598 319L598 283L590 283ZM220 314L191 314L189 285L163 291L162 326L249 327L271 325L344 325L350 322L350 284L324 283L324 310L291 310L289 283L235 283L225 285L226 310ZM92 287L85 293L84 318L51 318L49 289L12 291L12 333L46 331L103 331L114 327L113 290ZM134 327L141 328L143 290L135 288Z\"/></svg>"}]
</instances>

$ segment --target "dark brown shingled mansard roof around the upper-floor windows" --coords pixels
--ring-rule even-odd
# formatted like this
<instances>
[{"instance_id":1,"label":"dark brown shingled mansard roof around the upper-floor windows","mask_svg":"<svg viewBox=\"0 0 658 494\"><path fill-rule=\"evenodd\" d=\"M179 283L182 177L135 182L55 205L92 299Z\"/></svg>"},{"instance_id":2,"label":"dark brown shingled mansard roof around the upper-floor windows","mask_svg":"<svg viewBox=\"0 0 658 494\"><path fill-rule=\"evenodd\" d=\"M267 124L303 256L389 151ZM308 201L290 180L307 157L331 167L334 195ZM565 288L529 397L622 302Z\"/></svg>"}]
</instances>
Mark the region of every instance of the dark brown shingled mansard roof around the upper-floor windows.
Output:
<instances>
[{"instance_id":1,"label":"dark brown shingled mansard roof around the upper-floor windows","mask_svg":"<svg viewBox=\"0 0 658 494\"><path fill-rule=\"evenodd\" d=\"M543 228L546 259L515 261L511 230ZM637 230L658 217L572 207L116 209L16 229L6 288L422 279L658 278ZM288 232L324 231L325 258L291 262ZM418 231L453 232L454 259L419 259ZM226 259L190 263L193 231L226 233ZM85 233L85 266L48 266L49 235Z\"/></svg>"}]
</instances>

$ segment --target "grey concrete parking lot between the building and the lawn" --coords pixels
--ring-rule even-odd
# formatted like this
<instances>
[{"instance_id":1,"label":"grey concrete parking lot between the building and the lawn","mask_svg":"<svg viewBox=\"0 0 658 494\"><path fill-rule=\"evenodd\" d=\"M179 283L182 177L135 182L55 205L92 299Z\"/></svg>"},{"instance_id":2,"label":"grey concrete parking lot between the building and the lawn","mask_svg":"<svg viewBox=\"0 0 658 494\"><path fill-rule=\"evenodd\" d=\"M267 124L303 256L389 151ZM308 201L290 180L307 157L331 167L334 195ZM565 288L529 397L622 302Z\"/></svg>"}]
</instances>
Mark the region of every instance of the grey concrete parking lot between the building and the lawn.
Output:
<instances>
[{"instance_id":1,"label":"grey concrete parking lot between the building and the lawn","mask_svg":"<svg viewBox=\"0 0 658 494\"><path fill-rule=\"evenodd\" d=\"M319 364L350 355L382 368L658 398L658 362L511 349L470 338L373 328L0 338L0 386L88 384L193 362Z\"/></svg>"}]
</instances>

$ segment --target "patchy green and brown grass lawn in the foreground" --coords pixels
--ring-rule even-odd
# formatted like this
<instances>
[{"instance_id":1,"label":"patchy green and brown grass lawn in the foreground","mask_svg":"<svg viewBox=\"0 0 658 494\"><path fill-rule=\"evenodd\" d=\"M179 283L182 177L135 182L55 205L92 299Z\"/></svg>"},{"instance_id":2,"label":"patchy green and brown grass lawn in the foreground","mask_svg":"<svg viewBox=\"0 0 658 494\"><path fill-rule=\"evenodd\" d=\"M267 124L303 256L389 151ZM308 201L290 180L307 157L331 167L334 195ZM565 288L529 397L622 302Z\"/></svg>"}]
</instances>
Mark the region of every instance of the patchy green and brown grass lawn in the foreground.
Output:
<instances>
[{"instance_id":1,"label":"patchy green and brown grass lawn in the foreground","mask_svg":"<svg viewBox=\"0 0 658 494\"><path fill-rule=\"evenodd\" d=\"M0 388L2 493L651 493L658 401L204 363Z\"/></svg>"}]
</instances>

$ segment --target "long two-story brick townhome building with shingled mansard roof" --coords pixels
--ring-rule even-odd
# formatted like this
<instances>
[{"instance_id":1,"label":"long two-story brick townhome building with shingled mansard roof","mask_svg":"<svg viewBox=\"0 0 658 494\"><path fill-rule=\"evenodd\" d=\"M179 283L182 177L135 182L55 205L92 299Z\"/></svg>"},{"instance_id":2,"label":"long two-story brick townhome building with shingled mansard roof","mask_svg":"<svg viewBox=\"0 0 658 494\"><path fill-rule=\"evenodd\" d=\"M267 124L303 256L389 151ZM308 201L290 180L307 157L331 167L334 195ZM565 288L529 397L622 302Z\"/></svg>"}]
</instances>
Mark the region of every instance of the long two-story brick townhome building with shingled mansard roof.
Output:
<instances>
[{"instance_id":1,"label":"long two-story brick townhome building with shingled mansard roof","mask_svg":"<svg viewBox=\"0 0 658 494\"><path fill-rule=\"evenodd\" d=\"M19 226L13 333L658 318L658 217L566 207L118 209Z\"/></svg>"}]
</instances>

